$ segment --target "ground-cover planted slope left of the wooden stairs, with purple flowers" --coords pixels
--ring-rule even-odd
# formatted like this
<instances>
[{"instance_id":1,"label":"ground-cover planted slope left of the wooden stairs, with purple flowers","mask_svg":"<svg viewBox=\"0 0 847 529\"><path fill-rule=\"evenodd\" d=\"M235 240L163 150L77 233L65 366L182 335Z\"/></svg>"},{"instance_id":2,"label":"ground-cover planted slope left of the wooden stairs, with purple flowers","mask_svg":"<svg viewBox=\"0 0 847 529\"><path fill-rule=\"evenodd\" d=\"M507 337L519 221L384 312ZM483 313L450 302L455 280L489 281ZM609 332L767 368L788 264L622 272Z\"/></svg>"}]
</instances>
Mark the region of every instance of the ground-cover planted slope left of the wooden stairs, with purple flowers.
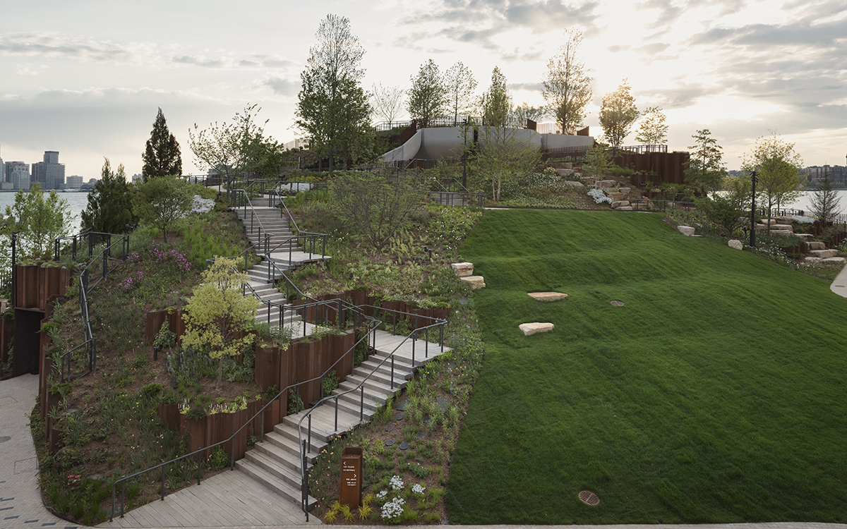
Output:
<instances>
[{"instance_id":1,"label":"ground-cover planted slope left of the wooden stairs, with purple flowers","mask_svg":"<svg viewBox=\"0 0 847 529\"><path fill-rule=\"evenodd\" d=\"M209 361L202 351L177 347L175 334L167 328L154 343L144 335L147 312L175 311L185 305L199 282L202 265L218 255L211 252L232 246L241 251L248 245L233 212L218 208L180 224L180 234L171 234L167 244L157 229L143 225L136 229L130 234L126 261L91 289L97 372L79 377L87 365L85 350L80 349L72 356L75 377L70 383L58 383L58 373L50 375L53 392L60 395L58 406L50 411L54 425L62 431L55 452L47 449L39 413L32 415L45 503L68 519L89 525L103 521L116 479L185 453L184 439L164 427L158 416L160 401L180 404L185 412L191 408L237 410L260 393L252 382L252 347L242 351L241 361L225 361L224 383L216 391L218 361ZM76 268L85 263L84 259L81 264L72 263L66 256L63 260ZM91 282L96 279L92 275ZM54 359L82 343L78 289L73 284L67 298L58 300L52 321L42 328L51 338L47 355ZM154 344L161 347L155 359ZM222 459L229 462L225 455L216 458L215 454L203 460L203 475L223 468ZM128 482L128 507L155 498L160 477ZM197 461L181 461L167 469L165 488L174 491L196 477Z\"/></svg>"}]
</instances>

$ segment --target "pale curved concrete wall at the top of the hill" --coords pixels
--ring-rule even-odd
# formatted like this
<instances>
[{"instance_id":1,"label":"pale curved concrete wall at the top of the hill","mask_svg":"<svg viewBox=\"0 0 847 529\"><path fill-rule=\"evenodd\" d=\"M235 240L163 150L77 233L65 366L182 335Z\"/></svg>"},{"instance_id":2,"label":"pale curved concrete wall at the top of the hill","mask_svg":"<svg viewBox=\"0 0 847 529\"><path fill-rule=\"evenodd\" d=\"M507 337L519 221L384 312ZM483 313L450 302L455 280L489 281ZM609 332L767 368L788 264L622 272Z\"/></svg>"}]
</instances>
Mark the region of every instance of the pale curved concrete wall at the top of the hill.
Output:
<instances>
[{"instance_id":1,"label":"pale curved concrete wall at the top of the hill","mask_svg":"<svg viewBox=\"0 0 847 529\"><path fill-rule=\"evenodd\" d=\"M490 131L484 127L478 129L479 141L484 143ZM529 129L511 129L508 134L513 134L512 137L516 140L525 141L541 150L594 144L594 138L591 136L539 134ZM468 132L468 141L473 141L473 132ZM402 146L386 152L382 156L382 160L384 162L397 162L458 157L462 154L462 142L462 127L420 129Z\"/></svg>"}]
</instances>

